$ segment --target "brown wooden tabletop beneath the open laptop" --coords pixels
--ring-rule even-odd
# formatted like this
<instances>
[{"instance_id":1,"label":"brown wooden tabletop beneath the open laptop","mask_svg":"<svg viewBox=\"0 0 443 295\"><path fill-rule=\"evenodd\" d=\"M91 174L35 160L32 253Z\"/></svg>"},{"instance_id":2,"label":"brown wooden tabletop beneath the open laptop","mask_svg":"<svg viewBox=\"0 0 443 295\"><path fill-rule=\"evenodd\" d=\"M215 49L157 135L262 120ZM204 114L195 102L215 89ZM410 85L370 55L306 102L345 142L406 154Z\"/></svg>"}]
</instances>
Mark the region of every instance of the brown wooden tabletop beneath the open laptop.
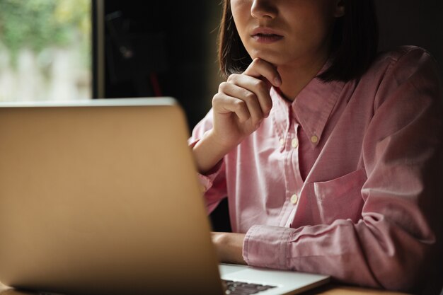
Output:
<instances>
[{"instance_id":1,"label":"brown wooden tabletop beneath the open laptop","mask_svg":"<svg viewBox=\"0 0 443 295\"><path fill-rule=\"evenodd\" d=\"M38 295L37 292L25 292L8 289L0 283L0 295ZM407 295L405 293L350 287L338 284L328 284L326 286L307 291L304 295Z\"/></svg>"}]
</instances>

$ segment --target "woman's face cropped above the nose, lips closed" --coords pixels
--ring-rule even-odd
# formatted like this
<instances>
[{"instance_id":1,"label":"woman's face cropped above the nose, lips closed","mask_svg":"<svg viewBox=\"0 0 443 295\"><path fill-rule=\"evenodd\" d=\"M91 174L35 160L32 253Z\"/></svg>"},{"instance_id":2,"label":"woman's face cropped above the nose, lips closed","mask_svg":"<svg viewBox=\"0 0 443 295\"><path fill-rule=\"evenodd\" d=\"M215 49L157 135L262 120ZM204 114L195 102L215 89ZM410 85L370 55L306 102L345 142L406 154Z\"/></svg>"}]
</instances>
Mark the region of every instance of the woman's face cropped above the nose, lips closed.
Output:
<instances>
[{"instance_id":1,"label":"woman's face cropped above the nose, lips closed","mask_svg":"<svg viewBox=\"0 0 443 295\"><path fill-rule=\"evenodd\" d=\"M228 0L243 45L275 66L306 66L328 57L341 0Z\"/></svg>"}]
</instances>

